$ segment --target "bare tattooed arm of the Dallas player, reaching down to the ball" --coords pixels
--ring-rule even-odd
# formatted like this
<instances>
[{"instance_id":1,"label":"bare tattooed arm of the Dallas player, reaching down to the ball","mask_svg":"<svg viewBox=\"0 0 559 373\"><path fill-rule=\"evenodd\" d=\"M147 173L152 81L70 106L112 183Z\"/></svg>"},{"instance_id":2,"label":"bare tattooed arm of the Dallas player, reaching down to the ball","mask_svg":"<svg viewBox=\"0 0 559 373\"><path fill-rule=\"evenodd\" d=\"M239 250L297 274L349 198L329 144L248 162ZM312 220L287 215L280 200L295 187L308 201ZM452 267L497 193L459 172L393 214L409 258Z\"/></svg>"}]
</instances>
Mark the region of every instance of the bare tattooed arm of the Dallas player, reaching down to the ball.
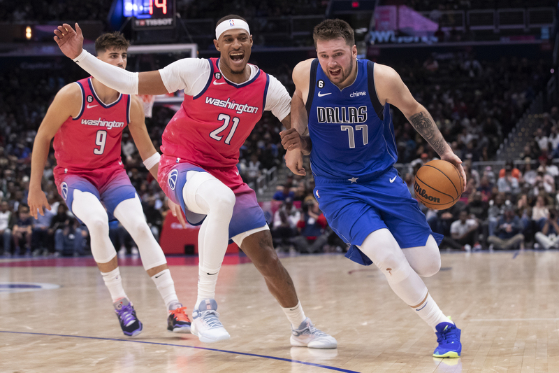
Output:
<instances>
[{"instance_id":1,"label":"bare tattooed arm of the Dallas player, reaching down to the ball","mask_svg":"<svg viewBox=\"0 0 559 373\"><path fill-rule=\"evenodd\" d=\"M402 78L394 69L382 64L375 64L375 87L381 104L392 104L402 111L407 120L412 124L423 139L437 152L442 160L451 162L458 168L464 180L466 190L466 173L462 167L462 161L444 140L435 120L426 108L414 99Z\"/></svg>"}]
</instances>

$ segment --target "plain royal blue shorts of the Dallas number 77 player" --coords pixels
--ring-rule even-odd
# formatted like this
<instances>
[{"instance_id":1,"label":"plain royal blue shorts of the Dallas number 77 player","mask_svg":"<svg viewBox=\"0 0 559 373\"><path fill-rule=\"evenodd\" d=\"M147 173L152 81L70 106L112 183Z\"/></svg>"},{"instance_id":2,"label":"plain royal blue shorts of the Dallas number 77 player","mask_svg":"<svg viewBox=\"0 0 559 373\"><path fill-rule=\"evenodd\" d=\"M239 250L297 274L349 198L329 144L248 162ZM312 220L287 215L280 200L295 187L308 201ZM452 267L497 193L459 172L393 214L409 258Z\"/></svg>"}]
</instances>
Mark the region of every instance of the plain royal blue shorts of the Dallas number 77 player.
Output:
<instances>
[{"instance_id":1,"label":"plain royal blue shorts of the Dallas number 77 player","mask_svg":"<svg viewBox=\"0 0 559 373\"><path fill-rule=\"evenodd\" d=\"M400 248L425 246L430 234L437 244L442 240L440 234L431 232L417 201L393 167L371 180L314 180L320 209L334 232L351 245L345 256L354 262L372 264L356 246L382 228L391 232Z\"/></svg>"}]
</instances>

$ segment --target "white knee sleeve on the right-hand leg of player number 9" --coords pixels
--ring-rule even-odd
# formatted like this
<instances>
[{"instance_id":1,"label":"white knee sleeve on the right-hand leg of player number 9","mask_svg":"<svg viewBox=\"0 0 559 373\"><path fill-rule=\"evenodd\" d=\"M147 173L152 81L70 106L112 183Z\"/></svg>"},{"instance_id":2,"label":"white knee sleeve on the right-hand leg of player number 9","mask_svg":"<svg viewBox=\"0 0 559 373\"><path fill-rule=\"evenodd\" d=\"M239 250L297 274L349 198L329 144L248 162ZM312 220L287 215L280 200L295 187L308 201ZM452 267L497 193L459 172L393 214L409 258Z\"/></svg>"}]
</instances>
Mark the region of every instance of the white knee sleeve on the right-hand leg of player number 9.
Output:
<instances>
[{"instance_id":1,"label":"white knee sleeve on the right-hand leg of player number 9","mask_svg":"<svg viewBox=\"0 0 559 373\"><path fill-rule=\"evenodd\" d=\"M114 215L122 223L124 229L130 233L134 242L136 242L146 271L167 263L161 246L153 237L152 230L150 230L145 221L144 211L138 195L120 202L115 208Z\"/></svg>"}]
</instances>

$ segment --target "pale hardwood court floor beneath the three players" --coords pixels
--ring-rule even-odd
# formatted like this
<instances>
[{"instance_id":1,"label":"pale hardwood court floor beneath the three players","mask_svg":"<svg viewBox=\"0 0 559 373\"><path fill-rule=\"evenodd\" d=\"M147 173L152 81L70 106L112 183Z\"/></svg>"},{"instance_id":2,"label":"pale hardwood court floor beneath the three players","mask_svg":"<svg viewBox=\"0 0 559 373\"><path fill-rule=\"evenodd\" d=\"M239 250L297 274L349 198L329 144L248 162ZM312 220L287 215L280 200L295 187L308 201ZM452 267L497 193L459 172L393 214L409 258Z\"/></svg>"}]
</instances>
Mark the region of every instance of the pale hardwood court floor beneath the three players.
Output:
<instances>
[{"instance_id":1,"label":"pale hardwood court floor beneath the three players","mask_svg":"<svg viewBox=\"0 0 559 373\"><path fill-rule=\"evenodd\" d=\"M96 267L7 262L0 260L0 372L559 372L558 251L442 254L441 272L425 281L463 331L459 360L433 359L432 330L376 267L342 255L282 259L307 316L337 339L338 349L326 351L289 345L289 323L250 263L219 274L218 311L231 339L202 344L166 331L164 304L143 267L121 267L144 324L128 338ZM170 268L191 309L197 267ZM8 282L61 287L2 292Z\"/></svg>"}]
</instances>

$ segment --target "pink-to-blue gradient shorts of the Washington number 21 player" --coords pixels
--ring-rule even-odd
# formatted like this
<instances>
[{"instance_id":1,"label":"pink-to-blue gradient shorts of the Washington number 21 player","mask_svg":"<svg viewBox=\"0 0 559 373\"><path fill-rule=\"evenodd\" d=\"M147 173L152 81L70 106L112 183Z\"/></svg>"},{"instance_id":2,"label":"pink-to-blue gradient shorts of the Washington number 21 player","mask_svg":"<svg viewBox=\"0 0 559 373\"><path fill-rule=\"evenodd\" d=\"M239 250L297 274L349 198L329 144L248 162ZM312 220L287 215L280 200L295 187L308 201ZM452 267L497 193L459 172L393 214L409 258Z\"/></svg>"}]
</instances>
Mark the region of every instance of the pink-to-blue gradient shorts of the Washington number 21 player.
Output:
<instances>
[{"instance_id":1,"label":"pink-to-blue gradient shorts of the Washington number 21 player","mask_svg":"<svg viewBox=\"0 0 559 373\"><path fill-rule=\"evenodd\" d=\"M194 164L182 162L174 164L172 167L160 169L159 185L161 189L163 189L171 201L182 208L184 215L191 225L201 225L205 215L189 211L186 204L184 204L182 189L184 184L187 183L188 171L208 172L208 174L215 176L215 178L228 186L228 188L231 188L233 193L235 193L235 206L233 207L231 223L229 223L229 239L266 225L266 218L258 204L256 193L242 181L237 167L205 170Z\"/></svg>"}]
</instances>

